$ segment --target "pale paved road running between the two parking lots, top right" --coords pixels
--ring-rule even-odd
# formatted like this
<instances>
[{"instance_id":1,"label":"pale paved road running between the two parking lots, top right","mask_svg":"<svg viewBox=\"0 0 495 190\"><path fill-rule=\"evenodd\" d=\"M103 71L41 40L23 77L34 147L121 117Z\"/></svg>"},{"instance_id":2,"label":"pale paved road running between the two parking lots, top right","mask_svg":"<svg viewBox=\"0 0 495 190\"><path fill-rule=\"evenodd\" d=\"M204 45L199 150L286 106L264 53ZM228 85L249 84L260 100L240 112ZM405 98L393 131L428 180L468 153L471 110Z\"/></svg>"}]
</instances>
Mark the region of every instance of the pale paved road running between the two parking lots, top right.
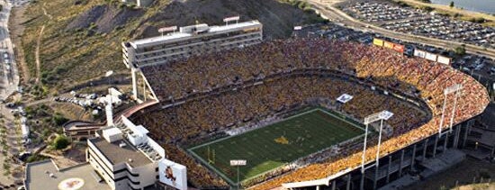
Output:
<instances>
[{"instance_id":1,"label":"pale paved road running between the two parking lots, top right","mask_svg":"<svg viewBox=\"0 0 495 190\"><path fill-rule=\"evenodd\" d=\"M401 33L385 30L381 27L374 26L370 23L364 23L356 20L355 18L347 15L346 13L338 10L331 6L329 3L322 2L321 0L309 0L311 5L315 6L315 9L320 12L321 15L327 17L330 21L334 23L345 24L347 27L364 32L375 32L380 33L384 36L391 37L394 39L399 39L402 41L410 41L416 43L422 43L425 45L430 45L438 48L443 48L446 50L455 49L455 47L461 46L463 43L456 41L444 41L434 38L428 38L424 36L413 35L410 33ZM474 46L471 44L465 44L465 49L468 53L473 53L477 55L482 55L495 59L495 50L485 49L479 46Z\"/></svg>"}]
</instances>

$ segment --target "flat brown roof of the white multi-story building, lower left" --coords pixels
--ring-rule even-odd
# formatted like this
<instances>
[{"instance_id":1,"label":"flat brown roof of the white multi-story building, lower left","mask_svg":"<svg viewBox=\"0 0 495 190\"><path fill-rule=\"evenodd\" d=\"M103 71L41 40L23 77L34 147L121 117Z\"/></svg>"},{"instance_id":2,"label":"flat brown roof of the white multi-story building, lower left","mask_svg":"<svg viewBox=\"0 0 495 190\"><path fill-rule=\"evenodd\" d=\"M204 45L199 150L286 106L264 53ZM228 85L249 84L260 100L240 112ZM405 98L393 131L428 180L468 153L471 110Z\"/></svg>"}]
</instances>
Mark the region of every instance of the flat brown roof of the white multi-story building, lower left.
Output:
<instances>
[{"instance_id":1,"label":"flat brown roof of the white multi-story building, lower left","mask_svg":"<svg viewBox=\"0 0 495 190\"><path fill-rule=\"evenodd\" d=\"M140 167L152 163L143 152L136 149L127 140L116 140L110 143L103 138L94 138L89 141L102 152L105 158L112 162L112 165L126 162L130 167ZM125 146L121 147L121 144L125 144Z\"/></svg>"}]
</instances>

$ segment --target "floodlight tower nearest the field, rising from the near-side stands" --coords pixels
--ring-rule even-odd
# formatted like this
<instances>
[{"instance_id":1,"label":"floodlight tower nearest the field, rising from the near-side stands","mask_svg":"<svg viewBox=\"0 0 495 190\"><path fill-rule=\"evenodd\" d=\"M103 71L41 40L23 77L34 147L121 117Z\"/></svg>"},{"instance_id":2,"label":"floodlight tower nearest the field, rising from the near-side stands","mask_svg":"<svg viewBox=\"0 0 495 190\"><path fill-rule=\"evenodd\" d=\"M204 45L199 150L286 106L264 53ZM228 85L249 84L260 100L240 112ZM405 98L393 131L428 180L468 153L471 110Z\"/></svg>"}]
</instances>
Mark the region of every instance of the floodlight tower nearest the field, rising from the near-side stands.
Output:
<instances>
[{"instance_id":1,"label":"floodlight tower nearest the field, rising from the near-side stands","mask_svg":"<svg viewBox=\"0 0 495 190\"><path fill-rule=\"evenodd\" d=\"M376 173L378 172L378 159L380 158L380 145L382 144L382 131L383 131L383 120L387 121L389 120L391 117L393 116L393 113L389 112L389 111L382 111L382 112L379 112L379 113L373 113L371 115L368 115L367 117L365 117L365 143L364 143L364 146L363 146L363 154L362 154L362 159L361 159L361 185L360 185L360 189L363 190L365 189L365 171L367 168L370 168L370 167L376 167ZM380 130L379 130L379 133L378 133L378 145L377 145L377 149L376 149L376 158L375 158L375 161L374 161L374 164L368 166L368 167L365 167L365 155L366 155L366 143L367 143L367 140L368 140L368 126L370 123L372 122L378 122L380 121ZM374 182L374 185L376 185L376 181Z\"/></svg>"}]
</instances>

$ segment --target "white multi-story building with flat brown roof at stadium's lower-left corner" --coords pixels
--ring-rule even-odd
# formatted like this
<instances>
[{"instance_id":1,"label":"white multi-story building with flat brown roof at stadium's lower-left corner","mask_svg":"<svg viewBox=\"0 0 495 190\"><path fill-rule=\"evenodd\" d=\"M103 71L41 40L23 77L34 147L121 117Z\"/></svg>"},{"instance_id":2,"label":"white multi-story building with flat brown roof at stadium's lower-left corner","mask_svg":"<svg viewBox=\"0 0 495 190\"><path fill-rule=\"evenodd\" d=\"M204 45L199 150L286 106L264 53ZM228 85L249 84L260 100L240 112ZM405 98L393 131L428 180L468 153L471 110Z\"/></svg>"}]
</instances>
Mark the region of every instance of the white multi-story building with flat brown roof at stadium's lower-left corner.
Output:
<instances>
[{"instance_id":1,"label":"white multi-story building with flat brown roof at stadium's lower-left corner","mask_svg":"<svg viewBox=\"0 0 495 190\"><path fill-rule=\"evenodd\" d=\"M147 133L143 126L131 123L97 131L95 138L87 140L86 159L114 190L156 185L158 165L165 160L165 150Z\"/></svg>"}]
</instances>

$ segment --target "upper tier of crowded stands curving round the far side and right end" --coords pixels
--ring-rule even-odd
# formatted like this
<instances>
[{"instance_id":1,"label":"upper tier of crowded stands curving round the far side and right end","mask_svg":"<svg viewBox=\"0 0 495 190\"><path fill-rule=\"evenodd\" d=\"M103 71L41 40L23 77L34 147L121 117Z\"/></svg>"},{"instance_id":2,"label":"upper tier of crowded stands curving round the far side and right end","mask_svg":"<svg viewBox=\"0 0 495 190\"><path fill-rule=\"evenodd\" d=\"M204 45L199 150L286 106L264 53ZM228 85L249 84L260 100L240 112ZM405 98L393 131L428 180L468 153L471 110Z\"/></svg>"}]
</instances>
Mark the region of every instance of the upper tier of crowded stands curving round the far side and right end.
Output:
<instances>
[{"instance_id":1,"label":"upper tier of crowded stands curving round the far side and right end","mask_svg":"<svg viewBox=\"0 0 495 190\"><path fill-rule=\"evenodd\" d=\"M266 55L267 49L271 50L269 56ZM294 55L290 54L291 52L286 52L289 50L292 50L291 52L293 52ZM267 41L260 45L248 47L242 50L231 50L229 52L222 53L221 56L231 56L232 58L237 59L238 54L243 54L247 59L244 59L244 62L238 61L231 68L223 70L227 73L226 75L238 75L235 71L237 68L235 67L244 67L243 69L245 69L248 65L252 66L251 69L262 69L264 65L270 63L270 61L276 60L277 64L279 64L277 67L280 67L281 64L286 63L285 67L287 69L279 69L278 71L274 71L275 69L272 69L265 70L263 72L258 70L248 70L247 73L263 73L265 76L275 76L286 74L287 72L295 72L297 70L311 69L338 72L339 74L347 75L348 77L356 77L363 80L366 79L366 81L374 82L377 86L387 88L387 92L391 92L392 94L406 94L427 104L432 113L432 118L421 126L402 133L400 136L389 140L384 140L380 151L380 157L407 147L414 142L427 138L438 132L439 123L441 122L441 104L444 103L445 99L444 89L448 86L453 86L455 84L460 84L463 86L462 97L457 103L458 112L455 113L454 117L455 124L467 121L482 113L490 102L487 90L473 77L469 77L464 73L455 70L455 68L451 68L443 64L429 62L425 59L407 58L397 52L385 50L380 47L367 46L353 42L329 41L324 39L291 39L285 41ZM282 56L277 57L276 59L270 58L279 55ZM311 62L311 59L307 59L308 56L299 55L315 56L320 58L320 61L324 60L327 62ZM176 87L169 86L169 84L187 84L190 81L185 82L184 80L189 80L189 78L194 77L208 76L208 69L212 69L214 67L197 67L198 69L195 69L194 61L198 62L197 64L208 66L208 64L216 63L213 61L215 58L215 56L202 55L199 57L192 57L187 60L180 60L179 62L175 62L167 66L159 66L167 68L162 69L157 67L145 67L142 68L142 71L144 76L150 81L150 86L155 90L155 92L157 92L158 98L162 101L160 106L166 107L163 106L163 104L166 104L166 97L170 95L184 95L180 97L182 98L181 100L183 100L187 98L187 95L185 95L187 93L184 93L183 91L191 90L189 86ZM304 64L299 65L299 68L294 68L293 65L298 63ZM182 65L182 67L184 67L184 64L192 64L192 67L188 67L187 73L175 73L173 76L164 73L164 70L166 70L166 72L174 72L174 65ZM180 70L180 68L177 70ZM187 74L192 77L182 76L182 74ZM182 78L174 76L181 76ZM211 75L208 77L210 77L209 79L211 81L221 81L227 76ZM420 94L413 95L413 93L408 92L402 93L401 91L403 91L403 89L401 88L383 85L383 81L375 81L374 78L378 77L387 77L387 79L392 78L394 80L392 83L400 82L410 84L411 86L414 86ZM266 77L242 78L242 76L240 76L240 78L241 79L238 81L244 82L253 80L263 81ZM382 84L380 84L380 82L382 82ZM229 86L231 84L232 82L228 81L224 84L220 83L215 85ZM207 90L206 88L197 88L198 89L194 89L194 91L208 93L210 91L215 91L215 89ZM194 94L191 94L191 96L193 95ZM151 110L156 111L156 108ZM450 120L450 117L446 118L446 120ZM374 161L374 153L376 152L375 149L376 146L369 148L365 155L366 161ZM324 179L338 174L339 172L346 171L348 168L359 167L361 165L361 156L361 152L356 152L345 158L338 158L338 160L332 160L331 162L310 164L309 166L301 167L289 172L284 176L277 176L260 185L255 185L252 188L271 189L286 183Z\"/></svg>"}]
</instances>

